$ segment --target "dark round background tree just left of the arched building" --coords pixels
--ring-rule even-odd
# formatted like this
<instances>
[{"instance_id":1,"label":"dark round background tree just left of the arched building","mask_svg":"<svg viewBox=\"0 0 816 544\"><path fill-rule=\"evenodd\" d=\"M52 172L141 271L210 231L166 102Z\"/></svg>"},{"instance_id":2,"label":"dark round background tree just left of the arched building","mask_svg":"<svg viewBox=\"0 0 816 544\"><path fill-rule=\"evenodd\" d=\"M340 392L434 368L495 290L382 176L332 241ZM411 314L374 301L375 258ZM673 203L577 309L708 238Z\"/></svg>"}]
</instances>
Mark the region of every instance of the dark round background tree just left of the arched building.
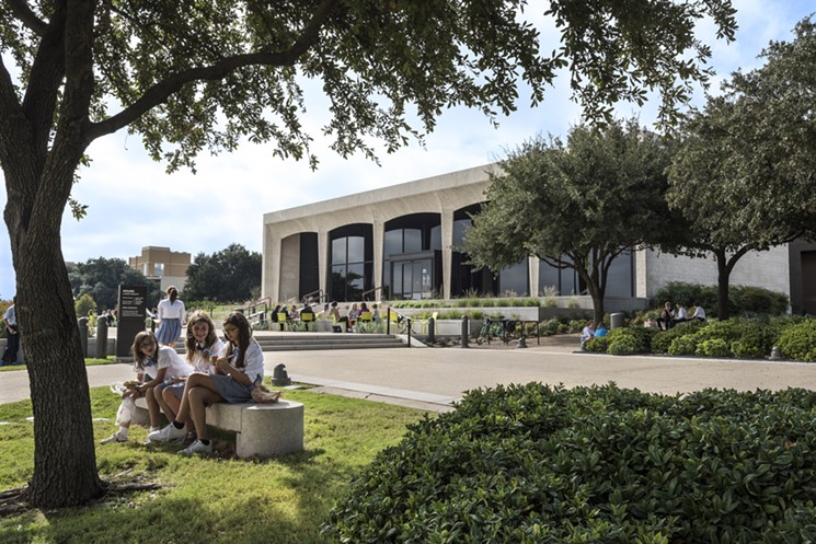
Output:
<instances>
[{"instance_id":1,"label":"dark round background tree just left of the arched building","mask_svg":"<svg viewBox=\"0 0 816 544\"><path fill-rule=\"evenodd\" d=\"M243 302L261 287L262 256L241 244L230 244L212 255L199 253L187 268L184 298Z\"/></svg>"}]
</instances>

